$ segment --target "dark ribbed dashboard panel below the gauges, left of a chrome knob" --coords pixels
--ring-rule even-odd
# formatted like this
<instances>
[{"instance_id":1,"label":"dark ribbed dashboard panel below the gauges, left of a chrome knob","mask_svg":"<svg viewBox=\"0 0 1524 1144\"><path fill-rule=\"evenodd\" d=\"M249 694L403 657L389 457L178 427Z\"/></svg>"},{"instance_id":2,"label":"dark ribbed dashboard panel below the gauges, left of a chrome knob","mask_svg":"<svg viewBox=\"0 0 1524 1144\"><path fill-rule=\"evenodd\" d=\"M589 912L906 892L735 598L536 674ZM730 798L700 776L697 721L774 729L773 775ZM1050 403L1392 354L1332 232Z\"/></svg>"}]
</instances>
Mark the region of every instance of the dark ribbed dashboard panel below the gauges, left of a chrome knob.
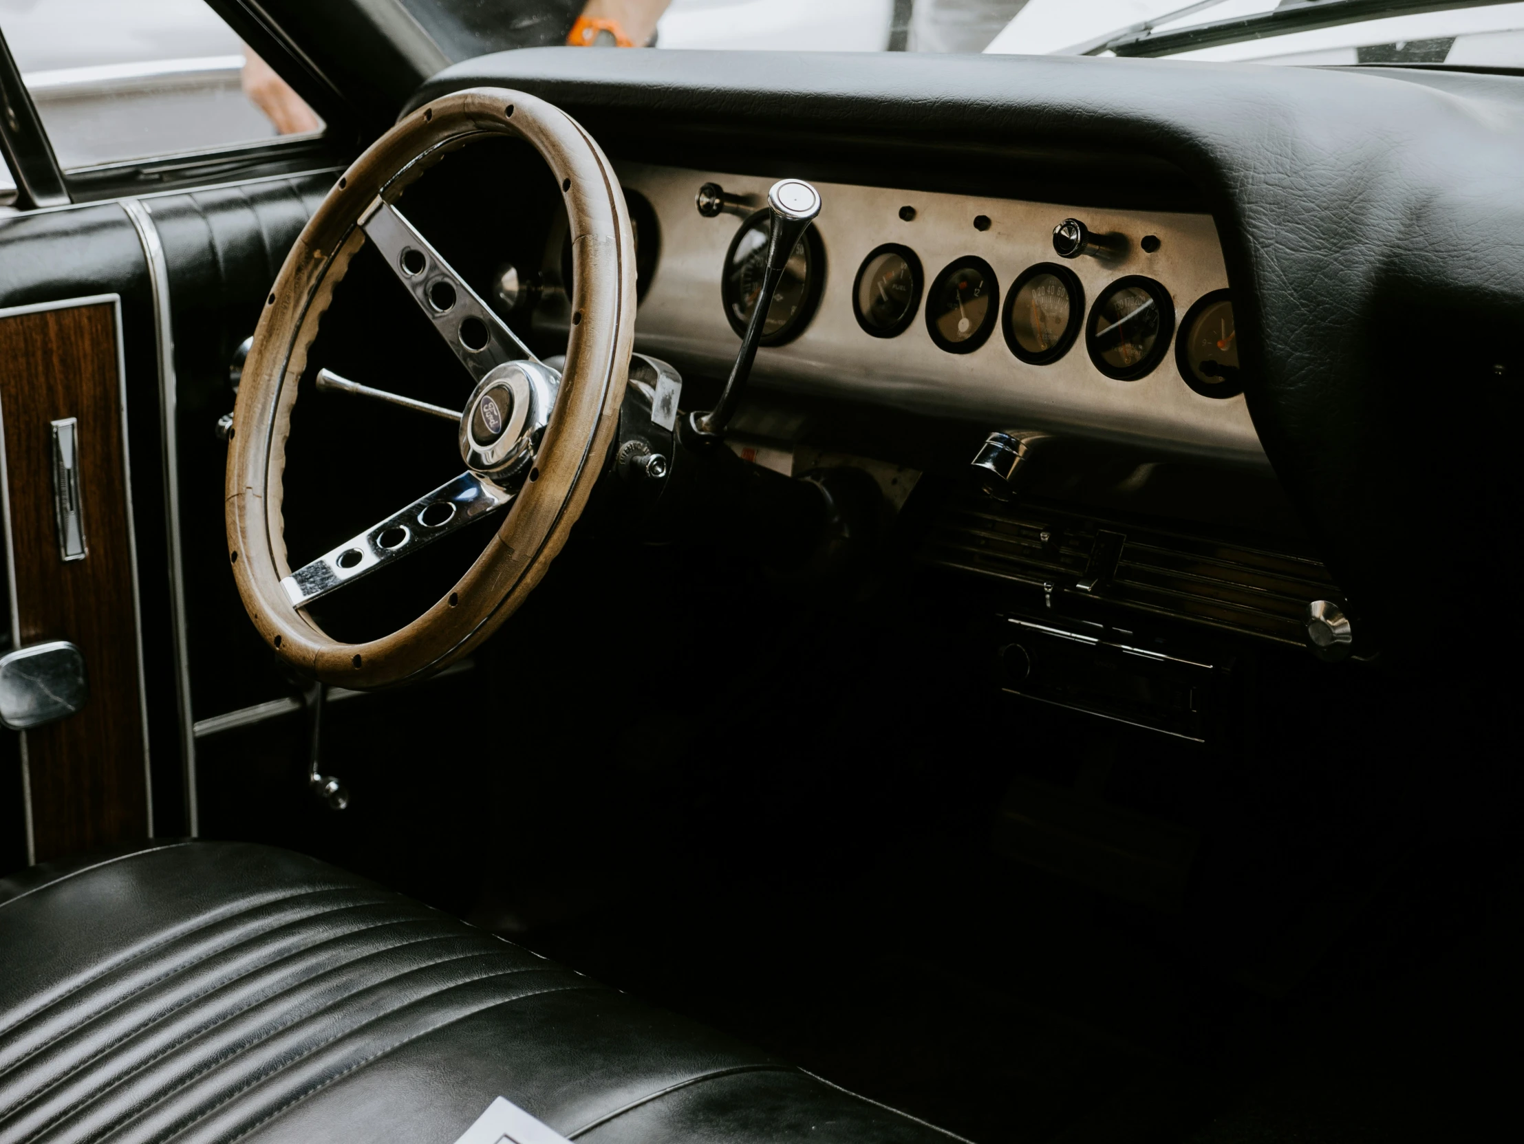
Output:
<instances>
[{"instance_id":1,"label":"dark ribbed dashboard panel below the gauges, left of a chrome knob","mask_svg":"<svg viewBox=\"0 0 1524 1144\"><path fill-rule=\"evenodd\" d=\"M1205 532L1097 518L1041 501L951 500L920 556L1049 594L1303 646L1312 600L1344 605L1323 564Z\"/></svg>"}]
</instances>

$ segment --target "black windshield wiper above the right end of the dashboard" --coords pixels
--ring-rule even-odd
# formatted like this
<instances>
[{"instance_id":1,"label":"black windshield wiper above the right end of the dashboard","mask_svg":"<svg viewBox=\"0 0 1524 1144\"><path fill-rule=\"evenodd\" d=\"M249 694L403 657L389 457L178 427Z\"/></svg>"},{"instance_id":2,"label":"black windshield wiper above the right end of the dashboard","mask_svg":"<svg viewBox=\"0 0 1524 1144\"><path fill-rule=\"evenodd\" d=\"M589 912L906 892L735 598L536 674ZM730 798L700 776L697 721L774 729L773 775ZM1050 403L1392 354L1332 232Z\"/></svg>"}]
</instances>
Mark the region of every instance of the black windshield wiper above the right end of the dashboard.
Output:
<instances>
[{"instance_id":1,"label":"black windshield wiper above the right end of the dashboard","mask_svg":"<svg viewBox=\"0 0 1524 1144\"><path fill-rule=\"evenodd\" d=\"M1516 0L1282 0L1274 12L1216 20L1196 27L1183 27L1178 32L1154 32L1166 21L1212 8L1215 3L1218 0L1207 0L1155 17L1146 21L1146 26L1134 24L1119 32L1109 32L1087 44L1076 44L1068 49L1068 53L1100 55L1113 52L1119 56L1167 56L1198 47L1237 44L1245 40L1308 32L1315 27L1337 27L1338 24L1353 24L1388 15L1445 12L1454 8L1489 8L1490 5L1516 3Z\"/></svg>"}]
</instances>

